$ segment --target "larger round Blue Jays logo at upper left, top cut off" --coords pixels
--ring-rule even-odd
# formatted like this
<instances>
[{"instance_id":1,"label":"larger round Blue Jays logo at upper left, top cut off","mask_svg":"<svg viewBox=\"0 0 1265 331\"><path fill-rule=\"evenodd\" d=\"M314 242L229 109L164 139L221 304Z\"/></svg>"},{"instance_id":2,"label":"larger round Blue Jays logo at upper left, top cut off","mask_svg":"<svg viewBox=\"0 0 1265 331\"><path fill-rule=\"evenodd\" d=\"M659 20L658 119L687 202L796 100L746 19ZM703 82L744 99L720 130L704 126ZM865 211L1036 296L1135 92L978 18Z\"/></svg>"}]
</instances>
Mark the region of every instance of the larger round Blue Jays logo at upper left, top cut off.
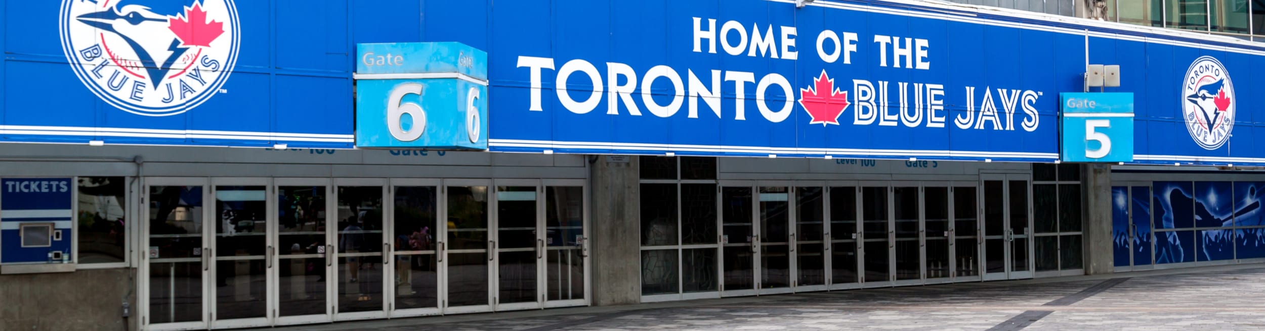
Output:
<instances>
[{"instance_id":1,"label":"larger round Blue Jays logo at upper left, top cut off","mask_svg":"<svg viewBox=\"0 0 1265 331\"><path fill-rule=\"evenodd\" d=\"M240 34L233 0L62 0L61 39L97 97L168 116L221 92Z\"/></svg>"}]
</instances>

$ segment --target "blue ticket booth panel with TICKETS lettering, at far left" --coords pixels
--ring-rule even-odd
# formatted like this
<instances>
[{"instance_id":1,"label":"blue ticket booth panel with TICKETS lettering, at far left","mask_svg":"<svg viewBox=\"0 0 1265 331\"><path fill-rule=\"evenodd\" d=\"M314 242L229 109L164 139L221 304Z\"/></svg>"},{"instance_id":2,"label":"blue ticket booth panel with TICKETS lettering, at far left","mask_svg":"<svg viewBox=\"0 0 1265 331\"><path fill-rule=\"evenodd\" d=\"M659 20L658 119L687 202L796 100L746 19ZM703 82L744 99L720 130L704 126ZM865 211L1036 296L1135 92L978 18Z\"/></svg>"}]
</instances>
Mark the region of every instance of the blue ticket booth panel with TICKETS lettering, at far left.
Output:
<instances>
[{"instance_id":1,"label":"blue ticket booth panel with TICKETS lettering, at far left","mask_svg":"<svg viewBox=\"0 0 1265 331\"><path fill-rule=\"evenodd\" d=\"M0 263L71 260L72 178L0 179Z\"/></svg>"}]
</instances>

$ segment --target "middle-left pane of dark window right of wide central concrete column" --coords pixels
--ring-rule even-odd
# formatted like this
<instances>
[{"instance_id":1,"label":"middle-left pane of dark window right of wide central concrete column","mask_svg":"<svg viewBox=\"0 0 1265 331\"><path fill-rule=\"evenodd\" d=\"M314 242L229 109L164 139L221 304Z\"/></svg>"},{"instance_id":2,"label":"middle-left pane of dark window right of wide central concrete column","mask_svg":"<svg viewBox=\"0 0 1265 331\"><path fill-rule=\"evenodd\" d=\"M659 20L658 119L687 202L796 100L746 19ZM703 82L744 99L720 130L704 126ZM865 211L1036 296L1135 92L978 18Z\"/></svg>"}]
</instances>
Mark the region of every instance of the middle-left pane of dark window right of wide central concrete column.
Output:
<instances>
[{"instance_id":1,"label":"middle-left pane of dark window right of wide central concrete column","mask_svg":"<svg viewBox=\"0 0 1265 331\"><path fill-rule=\"evenodd\" d=\"M641 184L641 245L676 244L677 184Z\"/></svg>"}]
</instances>

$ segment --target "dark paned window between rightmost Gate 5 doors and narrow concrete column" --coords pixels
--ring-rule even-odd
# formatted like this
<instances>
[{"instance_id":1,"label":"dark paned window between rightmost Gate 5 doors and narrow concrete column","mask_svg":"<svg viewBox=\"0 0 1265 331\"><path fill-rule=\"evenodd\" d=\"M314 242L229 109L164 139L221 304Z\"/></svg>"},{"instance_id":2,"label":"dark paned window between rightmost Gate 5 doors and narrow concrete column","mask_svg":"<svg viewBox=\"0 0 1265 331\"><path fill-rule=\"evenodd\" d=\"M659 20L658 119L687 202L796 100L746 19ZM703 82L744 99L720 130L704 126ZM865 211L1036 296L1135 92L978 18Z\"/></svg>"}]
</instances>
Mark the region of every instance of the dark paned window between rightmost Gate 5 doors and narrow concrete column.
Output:
<instances>
[{"instance_id":1,"label":"dark paned window between rightmost Gate 5 doors and narrow concrete column","mask_svg":"<svg viewBox=\"0 0 1265 331\"><path fill-rule=\"evenodd\" d=\"M1032 164L1036 272L1083 269L1079 164Z\"/></svg>"}]
</instances>

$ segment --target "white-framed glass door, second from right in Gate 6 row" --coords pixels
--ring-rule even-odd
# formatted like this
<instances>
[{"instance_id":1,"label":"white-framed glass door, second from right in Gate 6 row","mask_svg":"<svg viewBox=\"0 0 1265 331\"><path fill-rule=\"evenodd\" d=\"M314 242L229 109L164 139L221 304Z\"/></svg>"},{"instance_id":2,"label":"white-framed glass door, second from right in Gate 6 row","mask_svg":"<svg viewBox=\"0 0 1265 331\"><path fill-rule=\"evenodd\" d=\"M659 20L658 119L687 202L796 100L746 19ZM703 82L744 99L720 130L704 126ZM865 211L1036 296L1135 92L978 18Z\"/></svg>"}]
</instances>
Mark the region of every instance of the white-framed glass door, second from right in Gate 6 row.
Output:
<instances>
[{"instance_id":1,"label":"white-framed glass door, second from right in Gate 6 row","mask_svg":"<svg viewBox=\"0 0 1265 331\"><path fill-rule=\"evenodd\" d=\"M492 255L496 268L496 310L539 308L540 269L545 255L541 229L544 208L538 181L497 181L496 243Z\"/></svg>"}]
</instances>

